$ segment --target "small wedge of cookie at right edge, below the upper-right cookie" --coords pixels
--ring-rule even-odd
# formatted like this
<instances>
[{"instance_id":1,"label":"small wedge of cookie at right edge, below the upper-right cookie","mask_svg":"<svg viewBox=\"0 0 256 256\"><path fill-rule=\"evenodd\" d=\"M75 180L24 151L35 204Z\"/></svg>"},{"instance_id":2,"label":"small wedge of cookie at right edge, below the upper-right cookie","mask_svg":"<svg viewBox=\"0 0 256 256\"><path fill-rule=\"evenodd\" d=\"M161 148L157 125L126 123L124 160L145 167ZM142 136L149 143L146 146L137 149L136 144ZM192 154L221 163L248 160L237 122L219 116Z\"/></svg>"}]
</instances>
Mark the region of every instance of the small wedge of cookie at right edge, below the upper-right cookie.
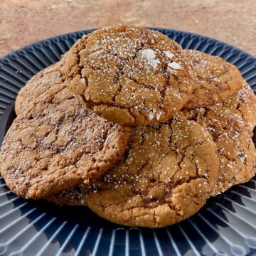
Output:
<instances>
[{"instance_id":1,"label":"small wedge of cookie at right edge, below the upper-right cookie","mask_svg":"<svg viewBox=\"0 0 256 256\"><path fill-rule=\"evenodd\" d=\"M245 80L237 94L220 103L234 114L238 114L252 131L256 126L256 96Z\"/></svg>"}]
</instances>

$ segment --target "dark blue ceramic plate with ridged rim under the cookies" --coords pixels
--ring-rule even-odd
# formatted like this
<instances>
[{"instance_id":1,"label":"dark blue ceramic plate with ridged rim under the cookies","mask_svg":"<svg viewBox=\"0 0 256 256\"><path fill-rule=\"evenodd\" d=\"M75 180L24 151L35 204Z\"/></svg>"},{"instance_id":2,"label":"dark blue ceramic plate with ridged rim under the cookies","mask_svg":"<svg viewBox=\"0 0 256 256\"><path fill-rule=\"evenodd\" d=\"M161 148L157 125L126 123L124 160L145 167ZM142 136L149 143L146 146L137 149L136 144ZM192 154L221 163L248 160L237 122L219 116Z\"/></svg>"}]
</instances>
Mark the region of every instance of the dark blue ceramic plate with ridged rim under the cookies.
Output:
<instances>
[{"instance_id":1,"label":"dark blue ceramic plate with ridged rim under the cookies","mask_svg":"<svg viewBox=\"0 0 256 256\"><path fill-rule=\"evenodd\" d=\"M154 29L183 48L235 64L256 90L256 58L251 55L205 36ZM1 58L0 144L15 117L14 102L21 87L90 32L50 38ZM150 230L115 225L87 208L24 201L0 177L0 255L256 255L256 178L210 198L188 220Z\"/></svg>"}]
</instances>

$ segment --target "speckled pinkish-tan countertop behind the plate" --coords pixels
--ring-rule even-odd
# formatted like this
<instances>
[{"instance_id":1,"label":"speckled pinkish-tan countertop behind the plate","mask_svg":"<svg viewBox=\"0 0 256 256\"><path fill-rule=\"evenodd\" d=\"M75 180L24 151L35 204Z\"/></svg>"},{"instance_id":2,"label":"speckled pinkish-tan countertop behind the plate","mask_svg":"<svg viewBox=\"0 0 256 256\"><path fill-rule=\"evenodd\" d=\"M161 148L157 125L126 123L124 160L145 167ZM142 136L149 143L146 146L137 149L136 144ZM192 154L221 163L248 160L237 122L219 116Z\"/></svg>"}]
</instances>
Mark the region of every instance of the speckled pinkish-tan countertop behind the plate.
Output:
<instances>
[{"instance_id":1,"label":"speckled pinkish-tan countertop behind the plate","mask_svg":"<svg viewBox=\"0 0 256 256\"><path fill-rule=\"evenodd\" d=\"M1 0L0 57L62 33L118 23L190 31L256 55L255 0Z\"/></svg>"}]
</instances>

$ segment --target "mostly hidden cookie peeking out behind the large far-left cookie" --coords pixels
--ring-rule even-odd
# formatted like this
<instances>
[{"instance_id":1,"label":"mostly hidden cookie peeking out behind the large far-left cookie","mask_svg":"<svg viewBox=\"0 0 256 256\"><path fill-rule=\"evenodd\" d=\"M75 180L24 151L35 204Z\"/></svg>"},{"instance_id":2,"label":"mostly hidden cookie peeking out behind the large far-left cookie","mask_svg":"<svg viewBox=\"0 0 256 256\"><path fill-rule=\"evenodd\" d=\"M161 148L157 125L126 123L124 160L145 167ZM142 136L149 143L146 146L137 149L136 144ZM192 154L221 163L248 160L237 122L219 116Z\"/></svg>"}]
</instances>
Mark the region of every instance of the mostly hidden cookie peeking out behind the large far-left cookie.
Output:
<instances>
[{"instance_id":1,"label":"mostly hidden cookie peeking out behind the large far-left cookie","mask_svg":"<svg viewBox=\"0 0 256 256\"><path fill-rule=\"evenodd\" d=\"M34 75L33 78L21 88L15 102L15 112L17 115L26 110L33 100L43 95L47 90L50 90L53 85L61 86L61 84L63 84L64 78L60 73L60 68L60 62L50 65L48 68Z\"/></svg>"}]
</instances>

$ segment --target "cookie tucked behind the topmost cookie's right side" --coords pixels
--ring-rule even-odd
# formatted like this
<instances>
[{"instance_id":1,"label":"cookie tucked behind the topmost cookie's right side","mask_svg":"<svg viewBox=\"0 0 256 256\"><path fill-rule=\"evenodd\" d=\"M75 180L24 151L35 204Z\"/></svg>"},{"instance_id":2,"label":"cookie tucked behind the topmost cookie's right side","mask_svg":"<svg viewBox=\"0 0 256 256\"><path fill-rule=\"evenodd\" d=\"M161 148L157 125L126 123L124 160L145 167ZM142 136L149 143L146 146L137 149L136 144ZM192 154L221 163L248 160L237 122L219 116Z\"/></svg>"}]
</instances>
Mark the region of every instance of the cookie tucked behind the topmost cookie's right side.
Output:
<instances>
[{"instance_id":1,"label":"cookie tucked behind the topmost cookie's right side","mask_svg":"<svg viewBox=\"0 0 256 256\"><path fill-rule=\"evenodd\" d=\"M183 56L191 64L191 73L196 78L193 94L184 109L215 105L240 90L242 75L234 65L197 50L183 50Z\"/></svg>"}]
</instances>

